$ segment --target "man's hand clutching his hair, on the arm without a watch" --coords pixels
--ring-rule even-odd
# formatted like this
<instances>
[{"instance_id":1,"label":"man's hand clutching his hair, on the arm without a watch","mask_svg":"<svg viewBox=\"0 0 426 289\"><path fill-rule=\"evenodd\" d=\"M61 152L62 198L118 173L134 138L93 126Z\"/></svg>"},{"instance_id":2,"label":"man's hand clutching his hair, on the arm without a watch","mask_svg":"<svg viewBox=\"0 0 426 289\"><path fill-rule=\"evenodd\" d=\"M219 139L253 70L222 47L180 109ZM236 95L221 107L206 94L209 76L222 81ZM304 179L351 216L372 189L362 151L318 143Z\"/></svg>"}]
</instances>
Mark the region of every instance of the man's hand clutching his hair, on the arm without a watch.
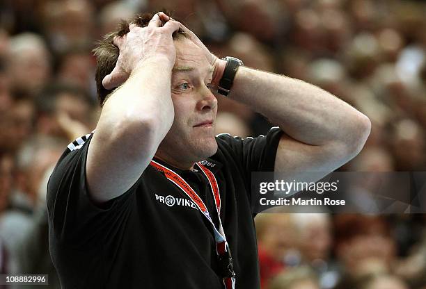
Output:
<instances>
[{"instance_id":1,"label":"man's hand clutching his hair, on the arm without a watch","mask_svg":"<svg viewBox=\"0 0 426 289\"><path fill-rule=\"evenodd\" d=\"M179 28L179 22L162 12L156 13L146 27L130 24L129 33L113 40L120 54L116 67L102 80L104 88L111 90L118 87L143 63L152 60L166 62L173 69L176 51L172 34Z\"/></svg>"}]
</instances>

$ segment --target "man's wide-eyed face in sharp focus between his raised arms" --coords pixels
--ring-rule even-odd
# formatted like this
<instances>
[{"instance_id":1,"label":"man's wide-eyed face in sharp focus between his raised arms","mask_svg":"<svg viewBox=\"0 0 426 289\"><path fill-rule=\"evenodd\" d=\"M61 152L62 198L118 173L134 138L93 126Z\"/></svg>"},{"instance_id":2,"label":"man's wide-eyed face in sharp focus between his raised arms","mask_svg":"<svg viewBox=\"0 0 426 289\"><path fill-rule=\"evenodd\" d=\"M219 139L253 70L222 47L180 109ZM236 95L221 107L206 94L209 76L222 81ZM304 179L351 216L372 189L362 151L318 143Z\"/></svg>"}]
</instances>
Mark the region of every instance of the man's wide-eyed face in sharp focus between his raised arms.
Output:
<instances>
[{"instance_id":1,"label":"man's wide-eyed face in sharp focus between his raised arms","mask_svg":"<svg viewBox=\"0 0 426 289\"><path fill-rule=\"evenodd\" d=\"M175 119L159 145L157 156L172 164L192 165L216 153L214 125L217 100L210 91L213 67L190 40L175 41L171 79Z\"/></svg>"}]
</instances>

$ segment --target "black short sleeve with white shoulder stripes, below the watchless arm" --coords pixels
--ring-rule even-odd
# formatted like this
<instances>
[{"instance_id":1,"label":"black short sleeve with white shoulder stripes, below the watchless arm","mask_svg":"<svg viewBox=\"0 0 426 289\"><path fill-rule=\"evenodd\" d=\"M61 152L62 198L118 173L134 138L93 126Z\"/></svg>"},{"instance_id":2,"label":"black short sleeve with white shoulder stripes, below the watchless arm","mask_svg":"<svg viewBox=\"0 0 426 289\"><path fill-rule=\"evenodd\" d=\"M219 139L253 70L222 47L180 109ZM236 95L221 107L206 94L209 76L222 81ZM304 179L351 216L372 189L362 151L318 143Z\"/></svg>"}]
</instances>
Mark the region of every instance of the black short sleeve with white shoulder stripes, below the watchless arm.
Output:
<instances>
[{"instance_id":1,"label":"black short sleeve with white shoulder stripes, below the watchless arm","mask_svg":"<svg viewBox=\"0 0 426 289\"><path fill-rule=\"evenodd\" d=\"M120 222L125 222L129 199L140 181L120 197L97 206L88 195L86 181L86 158L92 136L93 133L85 141L80 138L77 144L68 146L47 184L49 225L58 242L89 245L104 236L111 237Z\"/></svg>"}]
</instances>

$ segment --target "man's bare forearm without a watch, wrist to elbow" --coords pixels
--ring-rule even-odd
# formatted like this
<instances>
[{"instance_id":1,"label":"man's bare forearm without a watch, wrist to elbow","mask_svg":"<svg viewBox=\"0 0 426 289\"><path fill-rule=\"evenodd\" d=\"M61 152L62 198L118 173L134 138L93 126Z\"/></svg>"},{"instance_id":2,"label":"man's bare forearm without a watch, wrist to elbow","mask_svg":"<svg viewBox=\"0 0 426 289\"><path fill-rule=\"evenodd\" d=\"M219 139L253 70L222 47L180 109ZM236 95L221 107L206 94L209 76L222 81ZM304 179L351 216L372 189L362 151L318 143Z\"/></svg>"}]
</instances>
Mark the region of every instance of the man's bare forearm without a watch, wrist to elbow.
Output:
<instances>
[{"instance_id":1,"label":"man's bare forearm without a watch, wrist to elbow","mask_svg":"<svg viewBox=\"0 0 426 289\"><path fill-rule=\"evenodd\" d=\"M144 63L134 70L127 81L106 101L98 127L123 130L145 138L145 131L152 133L152 142L161 142L173 123L174 110L171 101L171 67L158 61ZM147 127L148 126L148 127ZM122 135L121 135L122 136Z\"/></svg>"}]
</instances>

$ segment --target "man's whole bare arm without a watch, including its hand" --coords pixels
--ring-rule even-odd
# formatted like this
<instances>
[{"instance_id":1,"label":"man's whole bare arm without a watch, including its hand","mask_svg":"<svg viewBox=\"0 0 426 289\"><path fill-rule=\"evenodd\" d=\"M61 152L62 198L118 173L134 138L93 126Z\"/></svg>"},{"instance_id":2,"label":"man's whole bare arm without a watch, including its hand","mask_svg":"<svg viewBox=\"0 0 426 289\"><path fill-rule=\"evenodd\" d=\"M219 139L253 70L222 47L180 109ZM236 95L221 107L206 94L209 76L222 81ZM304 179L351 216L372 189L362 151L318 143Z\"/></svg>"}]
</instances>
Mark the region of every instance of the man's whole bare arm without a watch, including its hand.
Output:
<instances>
[{"instance_id":1,"label":"man's whole bare arm without a watch, including its hand","mask_svg":"<svg viewBox=\"0 0 426 289\"><path fill-rule=\"evenodd\" d=\"M173 123L172 33L179 24L168 21L160 27L162 17L166 15L157 13L144 28L131 24L129 33L114 39L120 56L104 86L114 87L120 78L127 81L104 103L88 148L88 188L97 203L132 187Z\"/></svg>"}]
</instances>

